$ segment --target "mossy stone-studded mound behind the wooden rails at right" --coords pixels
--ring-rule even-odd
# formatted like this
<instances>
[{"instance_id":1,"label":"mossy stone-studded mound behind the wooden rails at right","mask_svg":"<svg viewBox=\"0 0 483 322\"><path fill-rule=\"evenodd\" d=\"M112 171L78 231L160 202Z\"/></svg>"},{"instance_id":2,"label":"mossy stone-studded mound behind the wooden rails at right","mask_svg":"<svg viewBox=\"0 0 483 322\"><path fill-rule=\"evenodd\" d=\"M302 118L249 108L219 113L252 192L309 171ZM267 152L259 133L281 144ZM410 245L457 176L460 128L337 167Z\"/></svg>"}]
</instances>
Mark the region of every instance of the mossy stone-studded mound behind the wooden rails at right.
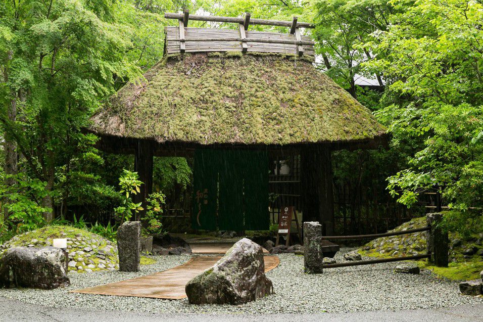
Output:
<instances>
[{"instance_id":1,"label":"mossy stone-studded mound behind the wooden rails at right","mask_svg":"<svg viewBox=\"0 0 483 322\"><path fill-rule=\"evenodd\" d=\"M405 231L407 229L426 226L426 217L414 218L403 223L392 231ZM474 280L479 278L483 270L482 242L483 236L471 236L462 238L456 234L450 234L450 250L448 267L434 267L427 264L427 260L420 260L420 267L431 269L437 275L452 280ZM472 250L469 254L468 250ZM370 257L399 257L426 253L426 232L408 235L377 238L363 247L359 253Z\"/></svg>"}]
</instances>

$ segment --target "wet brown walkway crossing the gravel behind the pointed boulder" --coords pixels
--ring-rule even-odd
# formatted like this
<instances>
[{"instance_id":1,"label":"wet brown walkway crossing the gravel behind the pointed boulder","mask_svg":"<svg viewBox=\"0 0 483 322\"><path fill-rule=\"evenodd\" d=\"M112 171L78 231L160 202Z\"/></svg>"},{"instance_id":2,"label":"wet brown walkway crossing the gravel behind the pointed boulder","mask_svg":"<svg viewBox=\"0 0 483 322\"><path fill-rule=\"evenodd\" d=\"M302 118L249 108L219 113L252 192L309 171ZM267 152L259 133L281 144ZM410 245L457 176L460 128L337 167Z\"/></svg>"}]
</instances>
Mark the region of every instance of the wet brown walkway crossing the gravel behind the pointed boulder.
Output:
<instances>
[{"instance_id":1,"label":"wet brown walkway crossing the gravel behind the pointed boulder","mask_svg":"<svg viewBox=\"0 0 483 322\"><path fill-rule=\"evenodd\" d=\"M186 297L184 286L196 275L213 266L221 256L196 256L171 269L135 279L89 287L70 293L149 297L177 300ZM264 256L265 272L280 263L277 256Z\"/></svg>"}]
</instances>

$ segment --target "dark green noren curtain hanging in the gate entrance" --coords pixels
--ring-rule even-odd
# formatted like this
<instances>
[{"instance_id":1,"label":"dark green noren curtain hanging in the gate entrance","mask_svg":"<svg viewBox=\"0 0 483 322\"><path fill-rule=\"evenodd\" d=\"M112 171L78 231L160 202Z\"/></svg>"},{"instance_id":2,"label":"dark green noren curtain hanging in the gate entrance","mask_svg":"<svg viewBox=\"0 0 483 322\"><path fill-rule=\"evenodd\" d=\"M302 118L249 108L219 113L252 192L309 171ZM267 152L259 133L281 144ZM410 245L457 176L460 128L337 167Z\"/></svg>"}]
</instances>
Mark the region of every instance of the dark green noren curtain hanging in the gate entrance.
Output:
<instances>
[{"instance_id":1,"label":"dark green noren curtain hanging in the gate entrance","mask_svg":"<svg viewBox=\"0 0 483 322\"><path fill-rule=\"evenodd\" d=\"M269 228L266 151L197 149L194 186L192 227L195 229L214 230L216 226L222 231ZM209 194L205 202L201 192L207 187L217 193ZM217 213L217 217L212 213Z\"/></svg>"}]
</instances>

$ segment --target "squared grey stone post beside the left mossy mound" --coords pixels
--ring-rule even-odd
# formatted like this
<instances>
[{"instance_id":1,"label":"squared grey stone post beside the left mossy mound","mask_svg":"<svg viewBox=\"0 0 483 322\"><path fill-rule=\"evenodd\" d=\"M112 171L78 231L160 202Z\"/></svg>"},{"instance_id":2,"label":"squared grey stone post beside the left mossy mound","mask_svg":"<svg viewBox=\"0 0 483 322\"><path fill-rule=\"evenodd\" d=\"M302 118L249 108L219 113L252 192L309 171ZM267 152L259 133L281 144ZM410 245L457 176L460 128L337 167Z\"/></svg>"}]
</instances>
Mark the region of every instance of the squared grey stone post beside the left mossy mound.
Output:
<instances>
[{"instance_id":1,"label":"squared grey stone post beside the left mossy mound","mask_svg":"<svg viewBox=\"0 0 483 322\"><path fill-rule=\"evenodd\" d=\"M141 223L126 221L117 229L119 270L139 271L141 260Z\"/></svg>"}]
</instances>

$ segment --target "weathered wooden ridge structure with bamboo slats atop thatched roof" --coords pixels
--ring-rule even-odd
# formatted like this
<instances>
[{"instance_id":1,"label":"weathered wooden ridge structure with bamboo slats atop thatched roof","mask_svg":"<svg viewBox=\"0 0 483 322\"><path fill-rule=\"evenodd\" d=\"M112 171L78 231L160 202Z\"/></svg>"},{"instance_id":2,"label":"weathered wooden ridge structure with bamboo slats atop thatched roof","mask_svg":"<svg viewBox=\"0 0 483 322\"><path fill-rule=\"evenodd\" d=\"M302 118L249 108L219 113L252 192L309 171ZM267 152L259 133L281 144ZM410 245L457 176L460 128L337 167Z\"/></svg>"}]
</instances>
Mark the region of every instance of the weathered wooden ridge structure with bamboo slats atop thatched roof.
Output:
<instances>
[{"instance_id":1,"label":"weathered wooden ridge structure with bamboo slats atop thatched roof","mask_svg":"<svg viewBox=\"0 0 483 322\"><path fill-rule=\"evenodd\" d=\"M178 19L178 27L166 27L167 54L185 52L261 52L315 56L314 42L300 33L299 28L314 28L310 23L292 21L165 13L167 19ZM188 20L238 24L238 30L188 28ZM249 31L250 25L290 27L290 32Z\"/></svg>"}]
</instances>

